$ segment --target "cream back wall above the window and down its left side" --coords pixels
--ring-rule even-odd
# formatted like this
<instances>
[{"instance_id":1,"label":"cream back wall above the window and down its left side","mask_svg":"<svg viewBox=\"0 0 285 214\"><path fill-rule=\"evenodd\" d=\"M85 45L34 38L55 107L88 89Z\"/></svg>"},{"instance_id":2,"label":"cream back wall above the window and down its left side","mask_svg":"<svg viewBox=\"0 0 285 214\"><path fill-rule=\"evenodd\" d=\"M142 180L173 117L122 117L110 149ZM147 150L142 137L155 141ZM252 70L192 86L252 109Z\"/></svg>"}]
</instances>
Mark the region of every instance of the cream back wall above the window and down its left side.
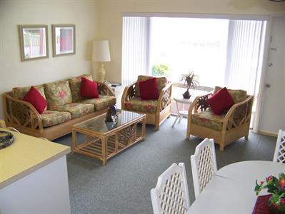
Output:
<instances>
[{"instance_id":1,"label":"cream back wall above the window and down its left side","mask_svg":"<svg viewBox=\"0 0 285 214\"><path fill-rule=\"evenodd\" d=\"M100 0L98 39L110 42L111 62L106 79L121 82L121 32L123 12L268 15L285 11L285 2L269 0Z\"/></svg>"}]
</instances>

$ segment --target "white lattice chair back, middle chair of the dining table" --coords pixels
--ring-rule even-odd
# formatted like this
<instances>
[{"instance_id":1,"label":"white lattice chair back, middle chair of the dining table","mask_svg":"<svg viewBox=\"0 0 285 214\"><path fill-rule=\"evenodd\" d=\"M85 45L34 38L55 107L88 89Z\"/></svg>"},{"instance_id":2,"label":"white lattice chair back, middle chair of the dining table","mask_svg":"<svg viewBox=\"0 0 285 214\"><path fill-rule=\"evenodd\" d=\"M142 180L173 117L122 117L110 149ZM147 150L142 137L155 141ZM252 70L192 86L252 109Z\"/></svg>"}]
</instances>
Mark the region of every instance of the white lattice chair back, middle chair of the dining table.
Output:
<instances>
[{"instance_id":1,"label":"white lattice chair back, middle chair of the dining table","mask_svg":"<svg viewBox=\"0 0 285 214\"><path fill-rule=\"evenodd\" d=\"M197 198L206 184L216 174L214 139L206 138L196 146L195 153L191 156L191 167L195 198Z\"/></svg>"}]
</instances>

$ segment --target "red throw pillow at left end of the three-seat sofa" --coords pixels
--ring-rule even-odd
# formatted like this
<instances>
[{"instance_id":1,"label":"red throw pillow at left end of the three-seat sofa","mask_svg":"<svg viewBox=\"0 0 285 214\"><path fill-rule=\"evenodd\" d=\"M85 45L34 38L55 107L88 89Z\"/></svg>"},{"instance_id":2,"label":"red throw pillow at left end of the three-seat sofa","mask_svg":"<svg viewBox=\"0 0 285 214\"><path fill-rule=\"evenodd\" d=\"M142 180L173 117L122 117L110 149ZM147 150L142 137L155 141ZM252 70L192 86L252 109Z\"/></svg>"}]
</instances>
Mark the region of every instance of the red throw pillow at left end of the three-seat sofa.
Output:
<instances>
[{"instance_id":1,"label":"red throw pillow at left end of the three-seat sofa","mask_svg":"<svg viewBox=\"0 0 285 214\"><path fill-rule=\"evenodd\" d=\"M23 101L31 103L31 105L36 108L36 111L38 111L40 114L44 113L44 110L46 110L46 99L41 96L41 93L39 93L36 88L31 86L28 93L23 98Z\"/></svg>"}]
</instances>

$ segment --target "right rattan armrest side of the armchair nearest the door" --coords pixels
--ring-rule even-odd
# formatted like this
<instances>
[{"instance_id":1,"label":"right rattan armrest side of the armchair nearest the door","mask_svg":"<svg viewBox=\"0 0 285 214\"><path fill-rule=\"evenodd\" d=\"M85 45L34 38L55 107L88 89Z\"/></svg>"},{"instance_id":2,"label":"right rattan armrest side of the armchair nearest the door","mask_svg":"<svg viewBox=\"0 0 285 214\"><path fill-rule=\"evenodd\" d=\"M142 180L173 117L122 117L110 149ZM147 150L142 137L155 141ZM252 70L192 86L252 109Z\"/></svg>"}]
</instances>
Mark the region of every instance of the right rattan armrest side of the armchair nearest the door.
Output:
<instances>
[{"instance_id":1,"label":"right rattan armrest side of the armchair nearest the door","mask_svg":"<svg viewBox=\"0 0 285 214\"><path fill-rule=\"evenodd\" d=\"M250 123L253 101L254 96L247 96L244 101L231 106L224 118L222 130L226 131L241 126L242 124Z\"/></svg>"}]
</instances>

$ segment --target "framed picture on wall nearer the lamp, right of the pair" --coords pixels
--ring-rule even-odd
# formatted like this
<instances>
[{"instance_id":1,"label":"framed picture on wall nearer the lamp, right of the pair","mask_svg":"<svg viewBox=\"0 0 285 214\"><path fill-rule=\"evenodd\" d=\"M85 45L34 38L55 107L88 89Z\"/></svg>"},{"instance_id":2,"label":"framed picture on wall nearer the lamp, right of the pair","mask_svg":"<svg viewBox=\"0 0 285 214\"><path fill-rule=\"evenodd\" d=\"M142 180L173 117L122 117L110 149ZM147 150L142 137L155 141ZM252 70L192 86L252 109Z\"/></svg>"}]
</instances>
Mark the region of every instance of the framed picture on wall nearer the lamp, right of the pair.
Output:
<instances>
[{"instance_id":1,"label":"framed picture on wall nearer the lamp, right of the pair","mask_svg":"<svg viewBox=\"0 0 285 214\"><path fill-rule=\"evenodd\" d=\"M53 56L75 54L75 25L52 25Z\"/></svg>"}]
</instances>

